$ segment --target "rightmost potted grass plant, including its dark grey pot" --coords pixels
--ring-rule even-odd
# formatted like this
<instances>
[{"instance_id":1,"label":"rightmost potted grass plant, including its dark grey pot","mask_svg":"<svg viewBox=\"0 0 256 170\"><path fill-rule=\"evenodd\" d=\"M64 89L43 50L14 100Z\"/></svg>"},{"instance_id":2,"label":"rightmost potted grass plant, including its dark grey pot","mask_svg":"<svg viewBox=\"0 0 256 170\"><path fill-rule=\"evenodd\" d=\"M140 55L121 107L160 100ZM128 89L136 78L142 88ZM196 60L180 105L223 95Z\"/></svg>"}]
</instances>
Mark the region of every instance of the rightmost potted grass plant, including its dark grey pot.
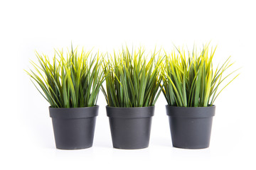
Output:
<instances>
[{"instance_id":1,"label":"rightmost potted grass plant, including its dark grey pot","mask_svg":"<svg viewBox=\"0 0 256 170\"><path fill-rule=\"evenodd\" d=\"M213 68L215 49L204 45L197 53L178 49L166 55L162 64L163 93L168 105L171 139L174 147L202 149L210 145L210 132L215 115L215 99L230 84L225 79L237 70L224 76L231 67L230 57L220 67ZM220 87L221 86L221 87ZM218 91L218 89L220 91Z\"/></svg>"}]
</instances>

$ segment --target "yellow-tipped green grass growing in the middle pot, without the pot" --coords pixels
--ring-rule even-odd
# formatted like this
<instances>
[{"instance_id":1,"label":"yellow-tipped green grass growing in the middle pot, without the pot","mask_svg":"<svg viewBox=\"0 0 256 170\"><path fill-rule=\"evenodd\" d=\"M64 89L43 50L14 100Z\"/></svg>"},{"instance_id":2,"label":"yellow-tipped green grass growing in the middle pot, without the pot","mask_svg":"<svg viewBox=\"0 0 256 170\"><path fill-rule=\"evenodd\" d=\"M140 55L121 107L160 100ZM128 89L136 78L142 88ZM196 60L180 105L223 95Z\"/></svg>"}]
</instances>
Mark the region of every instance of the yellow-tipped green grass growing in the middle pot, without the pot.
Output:
<instances>
[{"instance_id":1,"label":"yellow-tipped green grass growing in the middle pot, without the pot","mask_svg":"<svg viewBox=\"0 0 256 170\"><path fill-rule=\"evenodd\" d=\"M126 47L122 52L114 52L114 55L104 62L106 90L102 86L102 92L107 105L154 106L161 92L161 60L159 52L154 52L147 61L142 48L129 52Z\"/></svg>"}]
</instances>

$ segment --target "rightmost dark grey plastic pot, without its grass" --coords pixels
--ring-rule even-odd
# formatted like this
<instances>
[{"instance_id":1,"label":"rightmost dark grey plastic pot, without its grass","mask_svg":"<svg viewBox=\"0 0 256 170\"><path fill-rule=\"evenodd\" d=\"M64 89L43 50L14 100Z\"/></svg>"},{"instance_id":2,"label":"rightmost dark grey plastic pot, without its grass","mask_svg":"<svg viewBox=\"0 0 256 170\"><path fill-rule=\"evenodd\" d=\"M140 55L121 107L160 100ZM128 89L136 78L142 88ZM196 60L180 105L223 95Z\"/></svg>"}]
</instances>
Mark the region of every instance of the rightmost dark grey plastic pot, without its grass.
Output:
<instances>
[{"instance_id":1,"label":"rightmost dark grey plastic pot, without its grass","mask_svg":"<svg viewBox=\"0 0 256 170\"><path fill-rule=\"evenodd\" d=\"M166 113L169 116L174 147L184 149L209 147L215 106L197 108L166 106Z\"/></svg>"}]
</instances>

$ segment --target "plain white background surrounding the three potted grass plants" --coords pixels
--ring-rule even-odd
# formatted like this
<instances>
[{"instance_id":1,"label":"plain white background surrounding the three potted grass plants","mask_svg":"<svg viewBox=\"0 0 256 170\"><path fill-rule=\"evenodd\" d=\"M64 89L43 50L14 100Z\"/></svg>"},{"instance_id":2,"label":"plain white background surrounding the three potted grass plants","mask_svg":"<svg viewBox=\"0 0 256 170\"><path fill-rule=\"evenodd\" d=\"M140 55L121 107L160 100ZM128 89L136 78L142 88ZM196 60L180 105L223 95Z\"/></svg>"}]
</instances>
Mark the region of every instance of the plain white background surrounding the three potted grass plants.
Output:
<instances>
[{"instance_id":1,"label":"plain white background surrounding the three potted grass plants","mask_svg":"<svg viewBox=\"0 0 256 170\"><path fill-rule=\"evenodd\" d=\"M0 169L256 169L254 1L0 1ZM156 103L149 148L112 148L100 94L94 145L55 149L48 103L23 69L35 50L79 47L106 52L122 45L146 49L211 40L214 64L230 55L240 76L215 102L210 148L171 145L164 96Z\"/></svg>"}]
</instances>

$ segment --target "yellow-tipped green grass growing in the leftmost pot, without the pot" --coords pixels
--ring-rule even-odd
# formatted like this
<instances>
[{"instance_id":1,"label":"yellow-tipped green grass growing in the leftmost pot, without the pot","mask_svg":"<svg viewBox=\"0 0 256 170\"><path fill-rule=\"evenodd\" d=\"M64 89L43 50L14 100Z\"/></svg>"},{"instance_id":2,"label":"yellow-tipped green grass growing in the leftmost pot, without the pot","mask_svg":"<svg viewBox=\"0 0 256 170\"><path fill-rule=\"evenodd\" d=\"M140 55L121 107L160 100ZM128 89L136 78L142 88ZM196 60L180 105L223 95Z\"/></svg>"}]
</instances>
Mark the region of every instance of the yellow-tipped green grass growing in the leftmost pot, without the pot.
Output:
<instances>
[{"instance_id":1,"label":"yellow-tipped green grass growing in the leftmost pot, without the pot","mask_svg":"<svg viewBox=\"0 0 256 170\"><path fill-rule=\"evenodd\" d=\"M57 55L57 56L56 56ZM78 50L55 51L51 61L46 55L36 52L38 64L27 72L36 89L53 108L91 107L97 103L100 86L105 77L99 54L92 57L91 52ZM36 84L35 84L36 83ZM41 89L41 90L39 90Z\"/></svg>"}]
</instances>

